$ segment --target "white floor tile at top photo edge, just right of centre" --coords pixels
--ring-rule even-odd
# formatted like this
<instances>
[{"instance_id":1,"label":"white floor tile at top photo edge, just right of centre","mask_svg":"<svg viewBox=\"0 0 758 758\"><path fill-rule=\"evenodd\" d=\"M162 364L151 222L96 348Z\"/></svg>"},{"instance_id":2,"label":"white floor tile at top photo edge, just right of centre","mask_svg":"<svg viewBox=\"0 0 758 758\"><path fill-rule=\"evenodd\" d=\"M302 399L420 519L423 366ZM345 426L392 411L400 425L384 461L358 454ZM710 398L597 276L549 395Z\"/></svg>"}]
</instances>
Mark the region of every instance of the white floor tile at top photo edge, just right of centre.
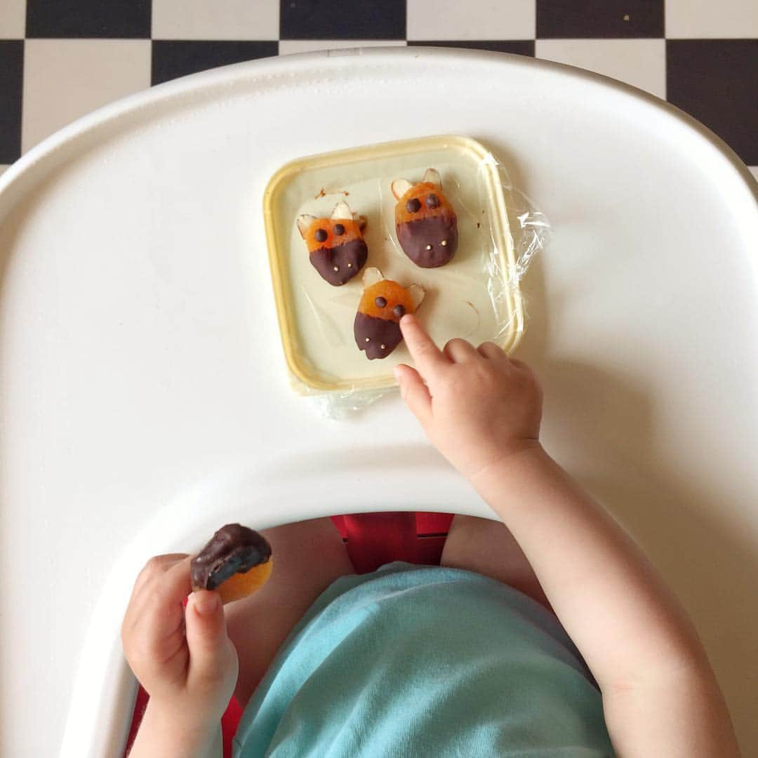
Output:
<instances>
[{"instance_id":1,"label":"white floor tile at top photo edge, just right of centre","mask_svg":"<svg viewBox=\"0 0 758 758\"><path fill-rule=\"evenodd\" d=\"M534 39L534 0L408 0L413 39Z\"/></svg>"}]
</instances>

